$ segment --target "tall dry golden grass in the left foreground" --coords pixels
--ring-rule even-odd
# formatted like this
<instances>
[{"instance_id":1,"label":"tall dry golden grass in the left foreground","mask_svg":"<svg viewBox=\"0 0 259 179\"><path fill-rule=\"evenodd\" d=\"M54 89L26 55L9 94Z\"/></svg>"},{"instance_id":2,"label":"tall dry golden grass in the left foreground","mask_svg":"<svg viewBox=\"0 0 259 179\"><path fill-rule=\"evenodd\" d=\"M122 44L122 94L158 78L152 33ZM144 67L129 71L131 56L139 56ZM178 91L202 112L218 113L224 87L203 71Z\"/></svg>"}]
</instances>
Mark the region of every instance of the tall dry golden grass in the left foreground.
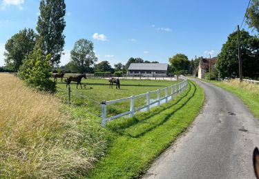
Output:
<instances>
[{"instance_id":1,"label":"tall dry golden grass in the left foreground","mask_svg":"<svg viewBox=\"0 0 259 179\"><path fill-rule=\"evenodd\" d=\"M77 178L95 158L77 125L49 94L0 74L0 178Z\"/></svg>"}]
</instances>

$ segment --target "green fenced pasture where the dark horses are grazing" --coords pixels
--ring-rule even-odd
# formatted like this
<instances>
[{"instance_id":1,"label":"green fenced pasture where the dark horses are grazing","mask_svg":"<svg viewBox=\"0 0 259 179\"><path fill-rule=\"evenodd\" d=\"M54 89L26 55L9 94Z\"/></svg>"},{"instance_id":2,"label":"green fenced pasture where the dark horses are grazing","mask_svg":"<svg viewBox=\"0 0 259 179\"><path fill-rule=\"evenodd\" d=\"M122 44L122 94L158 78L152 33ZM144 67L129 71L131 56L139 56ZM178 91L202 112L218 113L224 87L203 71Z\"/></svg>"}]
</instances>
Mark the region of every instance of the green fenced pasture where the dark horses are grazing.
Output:
<instances>
[{"instance_id":1,"label":"green fenced pasture where the dark horses are grazing","mask_svg":"<svg viewBox=\"0 0 259 179\"><path fill-rule=\"evenodd\" d=\"M60 78L59 80L60 81ZM148 91L154 91L159 88L171 86L178 81L153 81L153 80L125 80L120 79L121 87L116 89L109 88L108 79L87 78L81 81L83 89L79 85L76 89L76 83L71 83L71 102L75 106L84 106L88 112L100 115L102 101L111 101L118 98L125 98L136 94L144 94ZM57 83L57 96L67 103L68 89L66 83ZM161 91L161 96L165 95L165 91ZM157 94L151 94L151 100L157 98ZM146 103L146 97L137 98L135 107L140 107ZM128 111L130 108L129 101L108 105L106 109L107 116L119 114Z\"/></svg>"}]
</instances>

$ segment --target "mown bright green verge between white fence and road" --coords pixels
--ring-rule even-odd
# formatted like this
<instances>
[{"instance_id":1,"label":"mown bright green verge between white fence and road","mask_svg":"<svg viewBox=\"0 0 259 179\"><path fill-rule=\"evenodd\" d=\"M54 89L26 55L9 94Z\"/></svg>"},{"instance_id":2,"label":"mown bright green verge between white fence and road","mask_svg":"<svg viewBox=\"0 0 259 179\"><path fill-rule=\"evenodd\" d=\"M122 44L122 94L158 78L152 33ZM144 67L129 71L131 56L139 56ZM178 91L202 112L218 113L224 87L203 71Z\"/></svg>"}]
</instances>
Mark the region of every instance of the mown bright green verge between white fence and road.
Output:
<instances>
[{"instance_id":1,"label":"mown bright green verge between white fence and road","mask_svg":"<svg viewBox=\"0 0 259 179\"><path fill-rule=\"evenodd\" d=\"M186 91L169 104L133 118L111 121L107 130L113 140L107 154L86 178L141 176L151 162L189 127L200 112L203 101L203 89L189 81Z\"/></svg>"}]
</instances>

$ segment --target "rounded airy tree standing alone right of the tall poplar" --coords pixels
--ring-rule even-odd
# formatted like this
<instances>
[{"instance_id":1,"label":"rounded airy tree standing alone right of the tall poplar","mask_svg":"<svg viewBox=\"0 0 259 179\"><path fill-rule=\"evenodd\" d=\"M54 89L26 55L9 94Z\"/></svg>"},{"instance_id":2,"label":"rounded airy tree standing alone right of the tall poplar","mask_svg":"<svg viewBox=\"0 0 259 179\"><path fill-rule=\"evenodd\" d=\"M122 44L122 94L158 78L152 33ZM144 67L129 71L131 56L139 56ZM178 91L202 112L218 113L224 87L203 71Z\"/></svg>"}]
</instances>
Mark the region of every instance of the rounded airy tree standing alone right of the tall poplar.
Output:
<instances>
[{"instance_id":1,"label":"rounded airy tree standing alone right of the tall poplar","mask_svg":"<svg viewBox=\"0 0 259 179\"><path fill-rule=\"evenodd\" d=\"M91 66L97 61L95 52L93 52L93 42L86 39L79 39L75 42L70 56L70 65L73 66L73 70L77 70L81 74L90 72Z\"/></svg>"}]
</instances>

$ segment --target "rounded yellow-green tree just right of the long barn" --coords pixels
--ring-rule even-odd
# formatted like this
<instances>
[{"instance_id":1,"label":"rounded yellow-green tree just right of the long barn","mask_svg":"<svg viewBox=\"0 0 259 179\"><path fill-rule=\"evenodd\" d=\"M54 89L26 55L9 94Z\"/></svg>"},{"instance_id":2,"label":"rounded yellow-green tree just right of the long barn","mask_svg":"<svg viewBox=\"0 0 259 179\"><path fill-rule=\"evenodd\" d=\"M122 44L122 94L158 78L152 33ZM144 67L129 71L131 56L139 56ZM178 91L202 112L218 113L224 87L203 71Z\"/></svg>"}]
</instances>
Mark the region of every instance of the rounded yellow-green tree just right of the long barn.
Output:
<instances>
[{"instance_id":1,"label":"rounded yellow-green tree just right of the long barn","mask_svg":"<svg viewBox=\"0 0 259 179\"><path fill-rule=\"evenodd\" d=\"M185 54L175 54L175 56L169 58L169 62L175 71L189 70L190 61Z\"/></svg>"}]
</instances>

